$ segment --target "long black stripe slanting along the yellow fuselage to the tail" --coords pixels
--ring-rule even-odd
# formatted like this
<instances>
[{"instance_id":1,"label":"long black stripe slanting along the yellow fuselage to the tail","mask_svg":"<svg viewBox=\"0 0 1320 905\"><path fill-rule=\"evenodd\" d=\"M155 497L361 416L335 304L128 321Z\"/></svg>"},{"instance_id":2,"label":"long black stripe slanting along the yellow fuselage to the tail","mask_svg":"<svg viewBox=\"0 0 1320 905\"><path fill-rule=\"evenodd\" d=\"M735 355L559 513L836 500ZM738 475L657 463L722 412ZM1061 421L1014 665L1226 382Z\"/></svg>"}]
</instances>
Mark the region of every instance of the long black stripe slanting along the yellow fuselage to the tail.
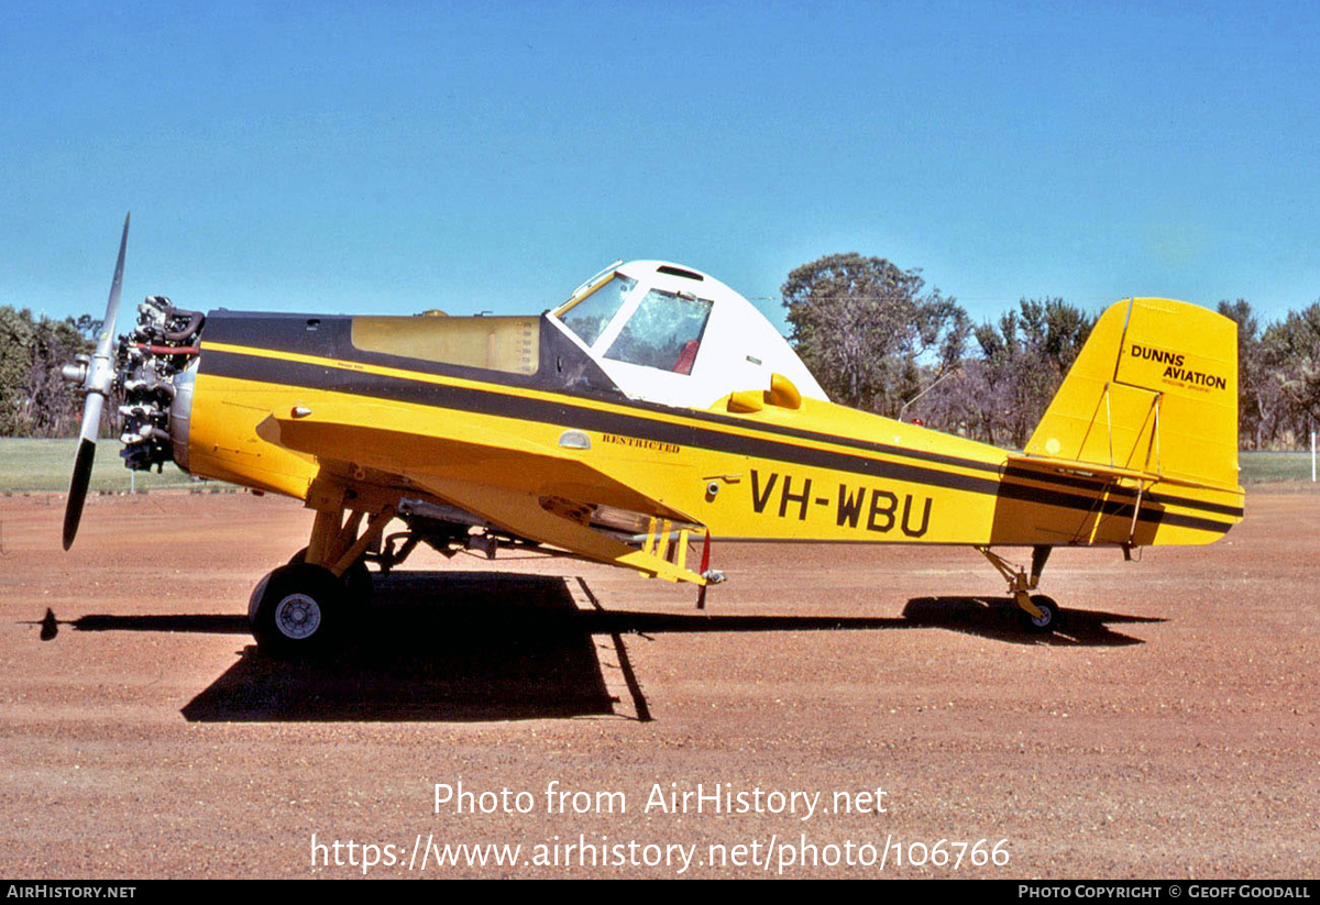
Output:
<instances>
[{"instance_id":1,"label":"long black stripe slanting along the yellow fuselage to the tail","mask_svg":"<svg viewBox=\"0 0 1320 905\"><path fill-rule=\"evenodd\" d=\"M201 372L220 377L257 380L286 387L306 387L309 389L323 389L352 396L367 396L372 398L388 398L401 402L414 402L444 409L457 409L462 412L475 412L480 414L515 418L520 421L562 425L568 427L577 427L579 430L618 433L630 437L675 443L677 446L694 446L717 452L748 455L792 464L846 471L871 478L886 478L915 484L968 491L972 493L998 495L1012 500L1041 503L1047 505L1082 509L1086 512L1097 509L1097 501L1093 497L1077 496L1074 493L1055 489L1011 484L1008 482L999 480L998 475L994 479L978 478L974 475L960 475L924 466L869 459L850 452L784 443L777 439L758 437L750 433L762 431L762 425L751 425L735 420L730 420L731 426L735 426L739 433L725 433L696 425L660 421L643 414L603 412L601 409L578 405L569 396L561 396L557 400L531 398L498 389L475 389L470 387L437 384L389 375L363 373L346 368L308 364L302 361L284 361L264 356L243 355L239 352L206 350L205 347L201 356ZM668 410L667 413L675 414L673 410ZM689 413L686 410L681 413L682 417L688 417L688 414ZM818 434L817 437L825 442L840 442L843 439L825 434ZM1036 479L1034 472L1028 472L1027 476ZM1125 511L1127 515L1131 515L1133 504L1122 500L1109 500L1100 504L1098 509L1105 515L1119 515ZM1171 525L1220 533L1232 528L1232 525L1220 521L1168 513L1158 509L1143 508L1139 518L1140 521L1154 524L1167 522Z\"/></svg>"}]
</instances>

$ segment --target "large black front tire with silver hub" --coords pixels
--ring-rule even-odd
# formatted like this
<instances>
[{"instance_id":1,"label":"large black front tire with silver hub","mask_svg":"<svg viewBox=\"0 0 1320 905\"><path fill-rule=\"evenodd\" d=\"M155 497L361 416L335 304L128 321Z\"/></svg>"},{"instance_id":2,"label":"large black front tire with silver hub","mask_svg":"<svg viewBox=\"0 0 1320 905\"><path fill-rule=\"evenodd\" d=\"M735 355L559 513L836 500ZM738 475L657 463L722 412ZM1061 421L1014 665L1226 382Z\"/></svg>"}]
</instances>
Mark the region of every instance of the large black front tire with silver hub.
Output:
<instances>
[{"instance_id":1,"label":"large black front tire with silver hub","mask_svg":"<svg viewBox=\"0 0 1320 905\"><path fill-rule=\"evenodd\" d=\"M321 566L290 563L263 579L252 612L252 637L277 657L321 656L346 637L347 592Z\"/></svg>"}]
</instances>

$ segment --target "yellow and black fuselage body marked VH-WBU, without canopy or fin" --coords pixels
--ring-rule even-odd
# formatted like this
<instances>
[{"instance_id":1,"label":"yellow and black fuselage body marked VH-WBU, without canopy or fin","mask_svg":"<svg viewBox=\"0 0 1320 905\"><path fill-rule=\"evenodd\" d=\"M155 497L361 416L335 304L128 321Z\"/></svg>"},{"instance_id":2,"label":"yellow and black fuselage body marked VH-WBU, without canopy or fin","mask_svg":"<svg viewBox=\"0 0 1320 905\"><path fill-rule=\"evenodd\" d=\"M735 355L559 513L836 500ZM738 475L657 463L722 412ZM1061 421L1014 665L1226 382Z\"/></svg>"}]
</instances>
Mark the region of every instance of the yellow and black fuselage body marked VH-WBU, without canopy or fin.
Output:
<instances>
[{"instance_id":1,"label":"yellow and black fuselage body marked VH-WBU, without canopy or fin","mask_svg":"<svg viewBox=\"0 0 1320 905\"><path fill-rule=\"evenodd\" d=\"M418 468L407 449L396 454L412 466L391 470L389 450L345 449L322 460L259 430L272 416L334 406L399 437L510 437L574 456L725 540L1204 544L1241 518L1233 495L1155 484L1142 489L1138 507L1135 487L1084 468L1010 464L1006 450L822 398L793 406L762 387L746 388L755 393L751 405L746 393L700 409L635 398L581 346L550 314L213 311L182 413L186 438L176 446L186 443L181 464L194 475L300 499L323 470L385 492L421 493L407 478ZM553 475L496 460L421 468L565 495L546 485ZM572 489L576 501L595 503L590 485Z\"/></svg>"}]
</instances>

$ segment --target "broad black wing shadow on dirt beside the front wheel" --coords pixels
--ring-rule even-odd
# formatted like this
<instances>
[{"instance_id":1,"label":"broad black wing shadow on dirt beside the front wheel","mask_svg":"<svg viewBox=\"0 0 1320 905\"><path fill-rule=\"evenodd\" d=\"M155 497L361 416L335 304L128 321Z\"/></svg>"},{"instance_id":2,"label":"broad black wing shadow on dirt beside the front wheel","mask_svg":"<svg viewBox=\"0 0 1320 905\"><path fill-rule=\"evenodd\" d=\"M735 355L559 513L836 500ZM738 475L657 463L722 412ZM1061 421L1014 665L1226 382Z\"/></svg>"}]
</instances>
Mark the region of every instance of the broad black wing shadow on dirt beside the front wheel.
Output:
<instances>
[{"instance_id":1,"label":"broad black wing shadow on dirt beside the front wheel","mask_svg":"<svg viewBox=\"0 0 1320 905\"><path fill-rule=\"evenodd\" d=\"M619 701L606 686L598 639L582 615L556 577L378 577L371 613L342 653L285 661L248 645L181 712L191 722L614 715Z\"/></svg>"}]
</instances>

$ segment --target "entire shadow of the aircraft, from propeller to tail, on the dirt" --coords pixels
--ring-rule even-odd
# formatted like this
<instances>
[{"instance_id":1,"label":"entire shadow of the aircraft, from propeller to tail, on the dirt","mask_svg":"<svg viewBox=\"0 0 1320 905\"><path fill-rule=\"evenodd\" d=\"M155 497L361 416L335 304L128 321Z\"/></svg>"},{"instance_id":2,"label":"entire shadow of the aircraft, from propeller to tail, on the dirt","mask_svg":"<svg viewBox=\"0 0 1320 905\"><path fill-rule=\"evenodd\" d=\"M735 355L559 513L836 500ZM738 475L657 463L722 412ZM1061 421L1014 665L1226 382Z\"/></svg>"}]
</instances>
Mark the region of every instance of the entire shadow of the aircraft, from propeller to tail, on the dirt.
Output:
<instances>
[{"instance_id":1,"label":"entire shadow of the aircraft, from propeller to tail, on the dirt","mask_svg":"<svg viewBox=\"0 0 1320 905\"><path fill-rule=\"evenodd\" d=\"M285 661L246 645L236 664L182 708L190 722L467 722L651 712L624 639L665 633L942 628L1011 644L1122 646L1111 624L1159 619L1065 609L1061 631L1024 635L1008 599L913 598L902 617L742 616L582 608L565 579L506 573L395 573L376 578L371 613L323 661ZM242 615L46 613L42 640L79 632L199 632L249 637ZM619 671L611 690L601 654ZM622 704L622 706L620 706Z\"/></svg>"}]
</instances>

